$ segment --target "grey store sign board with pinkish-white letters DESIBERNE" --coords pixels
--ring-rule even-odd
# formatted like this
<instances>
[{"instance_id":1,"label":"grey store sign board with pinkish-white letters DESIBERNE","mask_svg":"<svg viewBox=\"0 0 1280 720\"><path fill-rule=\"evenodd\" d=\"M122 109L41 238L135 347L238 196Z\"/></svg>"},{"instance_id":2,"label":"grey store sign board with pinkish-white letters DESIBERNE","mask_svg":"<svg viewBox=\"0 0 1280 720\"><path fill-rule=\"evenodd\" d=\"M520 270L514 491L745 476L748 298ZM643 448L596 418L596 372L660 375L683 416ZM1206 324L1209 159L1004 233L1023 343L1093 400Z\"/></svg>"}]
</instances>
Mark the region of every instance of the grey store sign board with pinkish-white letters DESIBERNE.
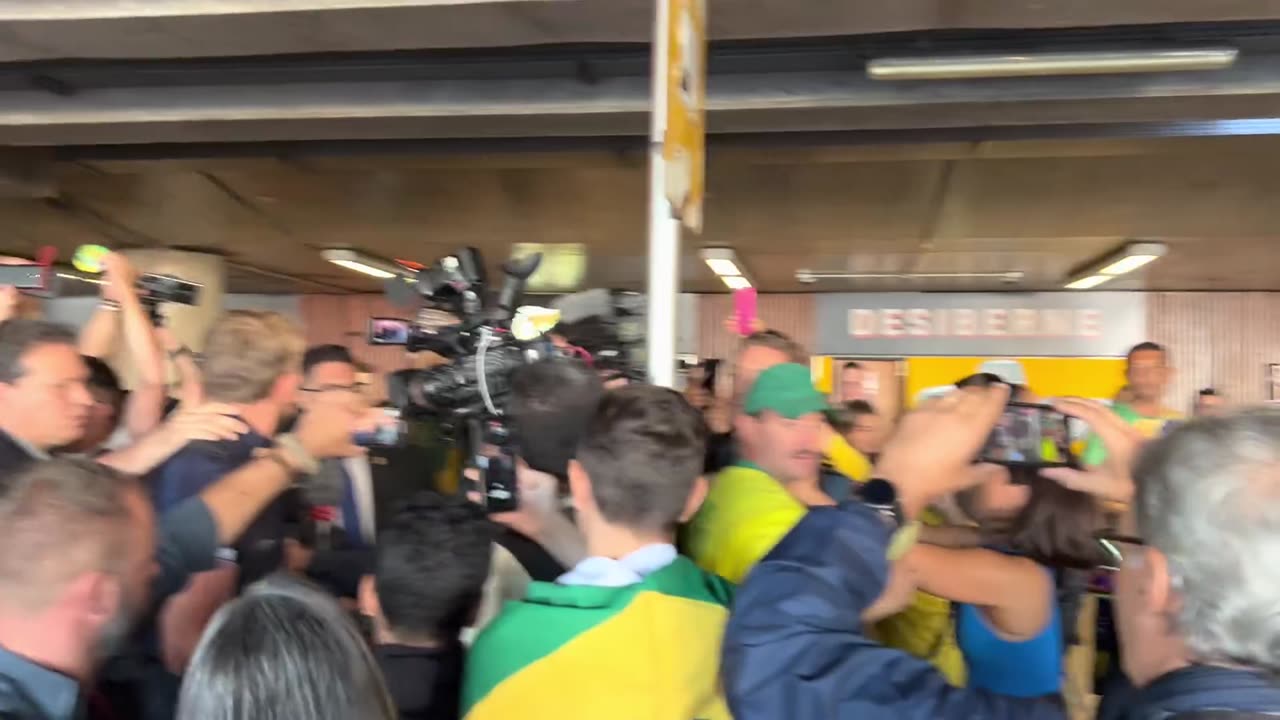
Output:
<instances>
[{"instance_id":1,"label":"grey store sign board with pinkish-white letters DESIBERNE","mask_svg":"<svg viewBox=\"0 0 1280 720\"><path fill-rule=\"evenodd\" d=\"M818 295L820 355L1121 356L1147 331L1138 292Z\"/></svg>"}]
</instances>

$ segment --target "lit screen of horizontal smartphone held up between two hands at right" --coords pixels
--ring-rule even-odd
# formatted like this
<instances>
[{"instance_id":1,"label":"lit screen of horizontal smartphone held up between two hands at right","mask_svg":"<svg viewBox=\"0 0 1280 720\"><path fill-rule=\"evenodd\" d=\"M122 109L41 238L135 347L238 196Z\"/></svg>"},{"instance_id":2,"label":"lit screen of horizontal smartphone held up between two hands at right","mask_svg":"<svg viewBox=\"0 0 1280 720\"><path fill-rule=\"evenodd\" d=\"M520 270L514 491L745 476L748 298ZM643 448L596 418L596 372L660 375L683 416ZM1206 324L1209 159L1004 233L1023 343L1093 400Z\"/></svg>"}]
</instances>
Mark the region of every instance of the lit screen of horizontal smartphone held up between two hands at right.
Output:
<instances>
[{"instance_id":1,"label":"lit screen of horizontal smartphone held up between two hands at right","mask_svg":"<svg viewBox=\"0 0 1280 720\"><path fill-rule=\"evenodd\" d=\"M1048 405L1010 402L991 430L979 462L1019 468L1075 468L1070 419Z\"/></svg>"}]
</instances>

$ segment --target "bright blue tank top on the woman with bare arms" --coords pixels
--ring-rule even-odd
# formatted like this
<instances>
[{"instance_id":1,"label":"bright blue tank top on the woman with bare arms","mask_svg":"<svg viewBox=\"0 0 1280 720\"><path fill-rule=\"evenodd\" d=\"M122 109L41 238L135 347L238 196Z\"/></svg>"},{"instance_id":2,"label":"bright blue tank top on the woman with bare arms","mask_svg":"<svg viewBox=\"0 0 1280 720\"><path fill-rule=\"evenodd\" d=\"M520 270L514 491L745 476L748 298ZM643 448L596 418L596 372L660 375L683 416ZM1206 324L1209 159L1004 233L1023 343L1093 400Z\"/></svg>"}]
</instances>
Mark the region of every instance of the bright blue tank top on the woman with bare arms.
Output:
<instances>
[{"instance_id":1,"label":"bright blue tank top on the woman with bare arms","mask_svg":"<svg viewBox=\"0 0 1280 720\"><path fill-rule=\"evenodd\" d=\"M1042 697L1062 691L1062 616L1052 596L1051 602L1044 629L1020 642L1000 637L980 607L956 603L956 644L969 667L970 687L1009 697Z\"/></svg>"}]
</instances>

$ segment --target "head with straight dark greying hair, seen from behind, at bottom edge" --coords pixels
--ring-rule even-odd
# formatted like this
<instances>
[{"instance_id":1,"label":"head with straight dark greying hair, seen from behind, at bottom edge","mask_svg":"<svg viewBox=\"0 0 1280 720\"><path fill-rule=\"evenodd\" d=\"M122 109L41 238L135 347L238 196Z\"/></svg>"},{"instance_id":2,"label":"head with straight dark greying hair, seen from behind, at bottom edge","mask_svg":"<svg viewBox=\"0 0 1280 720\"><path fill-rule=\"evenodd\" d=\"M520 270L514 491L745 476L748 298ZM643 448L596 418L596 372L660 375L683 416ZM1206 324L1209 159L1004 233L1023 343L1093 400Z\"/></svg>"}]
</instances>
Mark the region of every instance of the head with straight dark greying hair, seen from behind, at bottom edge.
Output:
<instances>
[{"instance_id":1,"label":"head with straight dark greying hair, seen from behind, at bottom edge","mask_svg":"<svg viewBox=\"0 0 1280 720\"><path fill-rule=\"evenodd\" d=\"M273 575L223 606L187 669L179 720L394 720L378 664L338 603Z\"/></svg>"}]
</instances>

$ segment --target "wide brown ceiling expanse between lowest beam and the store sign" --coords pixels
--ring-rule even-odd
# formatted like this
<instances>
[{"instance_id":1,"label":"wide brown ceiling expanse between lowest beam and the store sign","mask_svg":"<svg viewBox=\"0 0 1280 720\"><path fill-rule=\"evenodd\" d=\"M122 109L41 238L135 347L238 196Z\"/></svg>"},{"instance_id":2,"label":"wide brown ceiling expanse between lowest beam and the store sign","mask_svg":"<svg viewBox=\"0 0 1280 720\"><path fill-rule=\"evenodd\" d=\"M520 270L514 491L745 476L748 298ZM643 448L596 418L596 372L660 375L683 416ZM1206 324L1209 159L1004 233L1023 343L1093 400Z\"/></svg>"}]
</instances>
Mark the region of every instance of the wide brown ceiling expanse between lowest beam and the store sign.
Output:
<instances>
[{"instance_id":1,"label":"wide brown ceiling expanse between lowest beam and the store sign","mask_svg":"<svg viewBox=\"0 0 1280 720\"><path fill-rule=\"evenodd\" d=\"M1126 238L1170 254L1124 286L1276 290L1280 138L728 149L682 287L721 291L699 246L732 246L764 291L1056 290ZM431 260L466 245L581 242L588 286L641 288L643 156L616 152L100 160L59 192L0 201L0 252L82 242L227 254L234 290L375 291L324 247ZM1021 272L1025 281L796 282L799 269Z\"/></svg>"}]
</instances>

